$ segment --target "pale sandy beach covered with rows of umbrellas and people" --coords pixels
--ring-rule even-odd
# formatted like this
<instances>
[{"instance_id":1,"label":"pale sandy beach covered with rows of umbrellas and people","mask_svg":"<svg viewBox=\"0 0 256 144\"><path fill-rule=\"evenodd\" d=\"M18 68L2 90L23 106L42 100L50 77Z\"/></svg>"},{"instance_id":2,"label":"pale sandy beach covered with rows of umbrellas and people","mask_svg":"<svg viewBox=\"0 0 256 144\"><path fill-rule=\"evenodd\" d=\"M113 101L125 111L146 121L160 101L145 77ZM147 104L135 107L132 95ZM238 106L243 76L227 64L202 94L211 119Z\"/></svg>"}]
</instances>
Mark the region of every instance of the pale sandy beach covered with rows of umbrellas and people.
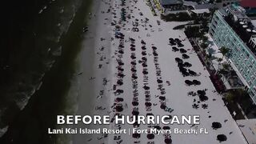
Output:
<instances>
[{"instance_id":1,"label":"pale sandy beach covered with rows of umbrellas and people","mask_svg":"<svg viewBox=\"0 0 256 144\"><path fill-rule=\"evenodd\" d=\"M154 138L148 138L147 134L136 138L133 134L74 134L73 142L167 143L166 139L171 139L172 143L179 144L215 144L219 143L218 134L225 134L227 139L222 143L246 143L222 101L222 95L215 92L210 74L198 59L184 30L173 30L182 22L163 22L159 16L154 17L144 0L124 2L122 6L119 0L94 1L89 30L85 34L86 41L80 55L82 75L77 114L198 114L200 125L168 127L206 128L209 134L159 134ZM130 18L122 18L123 10ZM179 51L172 49L170 38ZM191 65L182 66L190 71L189 75L182 75L177 58ZM200 83L188 86L186 80ZM198 90L204 94L199 94ZM122 107L122 110L118 107ZM211 127L213 122L221 123L222 127L214 130ZM133 125L114 123L110 126L86 126L91 129L98 127L134 128ZM150 127L154 126L140 125L138 129ZM163 129L164 125L160 127Z\"/></svg>"}]
</instances>

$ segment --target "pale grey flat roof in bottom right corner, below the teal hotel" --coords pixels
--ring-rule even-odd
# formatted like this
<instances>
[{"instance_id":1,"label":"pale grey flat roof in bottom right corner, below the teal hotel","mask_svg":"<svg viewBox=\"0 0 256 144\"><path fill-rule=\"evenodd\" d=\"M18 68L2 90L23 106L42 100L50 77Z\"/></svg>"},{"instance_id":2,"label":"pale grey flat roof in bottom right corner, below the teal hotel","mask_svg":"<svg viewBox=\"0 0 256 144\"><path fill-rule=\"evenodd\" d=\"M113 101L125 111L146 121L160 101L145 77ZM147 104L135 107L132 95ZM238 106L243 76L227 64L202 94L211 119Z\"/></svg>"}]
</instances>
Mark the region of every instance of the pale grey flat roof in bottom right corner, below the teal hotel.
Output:
<instances>
[{"instance_id":1,"label":"pale grey flat roof in bottom right corner, below the teal hotel","mask_svg":"<svg viewBox=\"0 0 256 144\"><path fill-rule=\"evenodd\" d=\"M237 120L238 127L249 144L256 144L256 118Z\"/></svg>"}]
</instances>

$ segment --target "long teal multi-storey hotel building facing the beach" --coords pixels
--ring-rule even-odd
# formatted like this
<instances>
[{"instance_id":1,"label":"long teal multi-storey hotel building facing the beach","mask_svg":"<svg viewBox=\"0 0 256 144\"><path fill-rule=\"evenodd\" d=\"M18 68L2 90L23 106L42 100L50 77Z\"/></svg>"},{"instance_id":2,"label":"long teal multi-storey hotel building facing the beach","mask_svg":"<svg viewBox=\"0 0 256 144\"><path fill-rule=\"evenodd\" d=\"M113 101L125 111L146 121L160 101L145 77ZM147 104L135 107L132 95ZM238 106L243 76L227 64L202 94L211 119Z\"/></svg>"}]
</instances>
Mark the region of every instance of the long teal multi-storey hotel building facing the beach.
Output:
<instances>
[{"instance_id":1,"label":"long teal multi-storey hotel building facing the beach","mask_svg":"<svg viewBox=\"0 0 256 144\"><path fill-rule=\"evenodd\" d=\"M218 48L230 49L226 59L256 103L256 27L241 6L229 5L214 13L209 34Z\"/></svg>"}]
</instances>

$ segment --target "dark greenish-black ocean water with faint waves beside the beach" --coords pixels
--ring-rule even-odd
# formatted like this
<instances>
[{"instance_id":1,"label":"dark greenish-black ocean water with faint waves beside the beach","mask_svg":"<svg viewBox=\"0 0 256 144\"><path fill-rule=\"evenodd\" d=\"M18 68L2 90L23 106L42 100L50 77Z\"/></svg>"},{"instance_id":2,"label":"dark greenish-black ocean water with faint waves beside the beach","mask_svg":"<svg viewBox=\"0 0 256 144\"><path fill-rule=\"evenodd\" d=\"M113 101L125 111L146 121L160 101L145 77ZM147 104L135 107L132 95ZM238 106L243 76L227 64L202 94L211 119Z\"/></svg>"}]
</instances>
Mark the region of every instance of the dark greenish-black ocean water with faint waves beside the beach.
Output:
<instances>
[{"instance_id":1,"label":"dark greenish-black ocean water with faint waves beside the beach","mask_svg":"<svg viewBox=\"0 0 256 144\"><path fill-rule=\"evenodd\" d=\"M9 1L1 7L0 143L68 143L47 134L57 114L72 114L67 97L91 0ZM70 94L70 93L69 93ZM74 94L74 98L76 94Z\"/></svg>"}]
</instances>

